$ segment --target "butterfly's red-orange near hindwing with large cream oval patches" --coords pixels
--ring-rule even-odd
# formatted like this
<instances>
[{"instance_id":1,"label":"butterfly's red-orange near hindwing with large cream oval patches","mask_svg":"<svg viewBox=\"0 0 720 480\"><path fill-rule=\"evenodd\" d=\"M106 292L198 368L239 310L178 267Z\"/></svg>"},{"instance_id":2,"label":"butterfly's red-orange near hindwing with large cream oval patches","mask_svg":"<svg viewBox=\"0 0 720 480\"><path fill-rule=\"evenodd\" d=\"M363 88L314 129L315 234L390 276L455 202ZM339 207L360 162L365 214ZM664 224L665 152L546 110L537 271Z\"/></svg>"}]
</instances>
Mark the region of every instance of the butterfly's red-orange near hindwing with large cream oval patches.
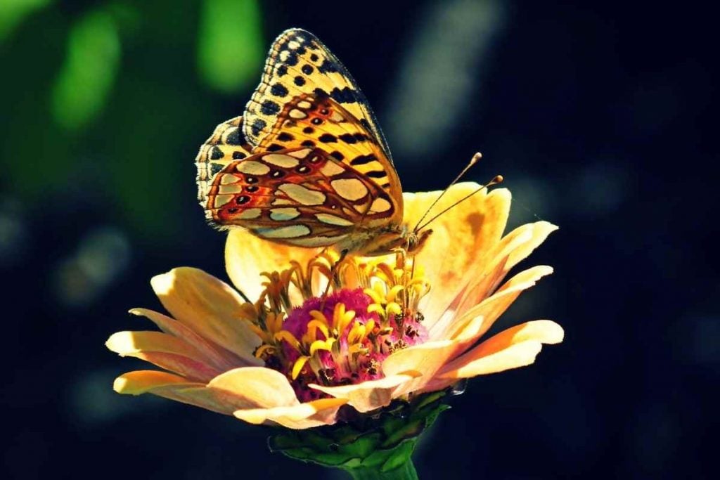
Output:
<instances>
[{"instance_id":1,"label":"butterfly's red-orange near hindwing with large cream oval patches","mask_svg":"<svg viewBox=\"0 0 720 480\"><path fill-rule=\"evenodd\" d=\"M215 175L207 215L217 225L302 247L333 245L392 216L387 192L319 148L257 153Z\"/></svg>"}]
</instances>

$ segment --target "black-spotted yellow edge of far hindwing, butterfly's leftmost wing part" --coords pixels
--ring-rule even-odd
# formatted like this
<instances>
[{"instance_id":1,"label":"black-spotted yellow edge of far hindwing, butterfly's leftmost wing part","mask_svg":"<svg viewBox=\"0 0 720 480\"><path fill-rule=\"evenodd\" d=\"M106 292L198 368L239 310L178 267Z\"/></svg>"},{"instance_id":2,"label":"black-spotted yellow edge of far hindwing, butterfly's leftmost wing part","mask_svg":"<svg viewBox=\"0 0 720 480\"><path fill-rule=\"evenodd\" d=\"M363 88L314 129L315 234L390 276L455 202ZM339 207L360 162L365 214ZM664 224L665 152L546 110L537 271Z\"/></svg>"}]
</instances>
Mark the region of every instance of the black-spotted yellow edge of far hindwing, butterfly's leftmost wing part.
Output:
<instances>
[{"instance_id":1,"label":"black-spotted yellow edge of far hindwing, butterfly's leftmost wing part","mask_svg":"<svg viewBox=\"0 0 720 480\"><path fill-rule=\"evenodd\" d=\"M243 117L235 117L215 127L195 158L197 199L207 205L212 179L229 163L252 155L252 147L243 135ZM208 217L210 219L210 217Z\"/></svg>"}]
</instances>

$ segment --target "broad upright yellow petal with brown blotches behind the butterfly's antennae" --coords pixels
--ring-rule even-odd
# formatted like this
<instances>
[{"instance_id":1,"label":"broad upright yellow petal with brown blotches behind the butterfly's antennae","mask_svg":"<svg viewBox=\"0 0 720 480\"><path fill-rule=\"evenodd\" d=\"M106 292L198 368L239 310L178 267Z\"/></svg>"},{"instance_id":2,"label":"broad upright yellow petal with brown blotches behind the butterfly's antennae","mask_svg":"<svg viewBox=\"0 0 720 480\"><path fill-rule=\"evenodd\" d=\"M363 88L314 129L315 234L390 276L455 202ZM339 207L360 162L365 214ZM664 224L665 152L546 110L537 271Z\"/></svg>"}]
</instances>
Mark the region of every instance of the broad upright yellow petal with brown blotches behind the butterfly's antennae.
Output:
<instances>
[{"instance_id":1,"label":"broad upright yellow petal with brown blotches behind the butterfly's antennae","mask_svg":"<svg viewBox=\"0 0 720 480\"><path fill-rule=\"evenodd\" d=\"M452 186L433 212L441 212L480 187L474 182ZM405 219L414 227L440 192L405 194ZM510 192L482 190L442 214L431 224L432 235L417 255L433 290L423 302L428 327L456 296L469 276L477 275L477 260L495 248L505 229L510 210Z\"/></svg>"}]
</instances>

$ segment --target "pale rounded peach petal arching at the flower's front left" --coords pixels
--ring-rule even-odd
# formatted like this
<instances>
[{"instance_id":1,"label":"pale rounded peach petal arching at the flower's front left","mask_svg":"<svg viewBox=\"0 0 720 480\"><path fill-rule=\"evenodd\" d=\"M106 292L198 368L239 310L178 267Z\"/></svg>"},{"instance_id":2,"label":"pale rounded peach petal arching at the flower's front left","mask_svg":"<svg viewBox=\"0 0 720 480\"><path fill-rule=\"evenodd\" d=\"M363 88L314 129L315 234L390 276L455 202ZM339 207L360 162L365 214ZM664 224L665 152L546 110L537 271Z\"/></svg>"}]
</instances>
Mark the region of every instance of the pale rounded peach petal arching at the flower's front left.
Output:
<instances>
[{"instance_id":1,"label":"pale rounded peach petal arching at the flower's front left","mask_svg":"<svg viewBox=\"0 0 720 480\"><path fill-rule=\"evenodd\" d=\"M207 386L230 391L260 408L289 407L298 403L287 377L265 367L235 368L215 377Z\"/></svg>"}]
</instances>

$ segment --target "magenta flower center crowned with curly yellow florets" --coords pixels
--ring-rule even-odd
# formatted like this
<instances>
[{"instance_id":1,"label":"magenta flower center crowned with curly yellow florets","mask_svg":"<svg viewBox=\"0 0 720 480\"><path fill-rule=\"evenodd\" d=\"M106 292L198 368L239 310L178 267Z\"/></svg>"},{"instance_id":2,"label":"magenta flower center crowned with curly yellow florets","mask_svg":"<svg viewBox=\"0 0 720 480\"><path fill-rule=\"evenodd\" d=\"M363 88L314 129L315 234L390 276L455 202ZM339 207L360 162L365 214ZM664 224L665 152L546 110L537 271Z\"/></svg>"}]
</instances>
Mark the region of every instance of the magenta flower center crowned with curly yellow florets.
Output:
<instances>
[{"instance_id":1,"label":"magenta flower center crowned with curly yellow florets","mask_svg":"<svg viewBox=\"0 0 720 480\"><path fill-rule=\"evenodd\" d=\"M336 264L332 253L323 253L305 269L294 263L266 275L254 325L263 342L255 355L288 376L300 401L328 397L310 384L382 378L387 356L428 338L418 302L430 287L420 269L400 253L392 264L362 260ZM292 307L298 293L302 305Z\"/></svg>"}]
</instances>

